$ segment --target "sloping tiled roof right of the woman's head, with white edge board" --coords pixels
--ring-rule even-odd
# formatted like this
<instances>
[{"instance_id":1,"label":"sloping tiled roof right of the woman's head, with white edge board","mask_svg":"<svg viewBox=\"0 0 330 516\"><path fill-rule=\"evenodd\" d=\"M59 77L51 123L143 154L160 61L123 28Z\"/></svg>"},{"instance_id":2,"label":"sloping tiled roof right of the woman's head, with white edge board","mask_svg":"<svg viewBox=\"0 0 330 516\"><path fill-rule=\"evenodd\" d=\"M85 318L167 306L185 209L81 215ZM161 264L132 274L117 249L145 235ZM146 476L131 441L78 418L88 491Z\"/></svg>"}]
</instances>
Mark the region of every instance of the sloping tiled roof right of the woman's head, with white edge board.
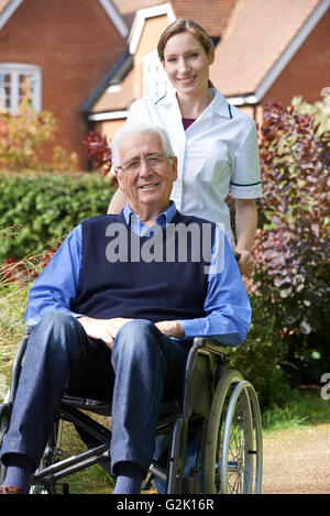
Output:
<instances>
[{"instance_id":1,"label":"sloping tiled roof right of the woman's head, with white edge board","mask_svg":"<svg viewBox=\"0 0 330 516\"><path fill-rule=\"evenodd\" d=\"M233 103L242 96L258 102L328 7L329 0L239 1L217 48L211 80Z\"/></svg>"}]
</instances>

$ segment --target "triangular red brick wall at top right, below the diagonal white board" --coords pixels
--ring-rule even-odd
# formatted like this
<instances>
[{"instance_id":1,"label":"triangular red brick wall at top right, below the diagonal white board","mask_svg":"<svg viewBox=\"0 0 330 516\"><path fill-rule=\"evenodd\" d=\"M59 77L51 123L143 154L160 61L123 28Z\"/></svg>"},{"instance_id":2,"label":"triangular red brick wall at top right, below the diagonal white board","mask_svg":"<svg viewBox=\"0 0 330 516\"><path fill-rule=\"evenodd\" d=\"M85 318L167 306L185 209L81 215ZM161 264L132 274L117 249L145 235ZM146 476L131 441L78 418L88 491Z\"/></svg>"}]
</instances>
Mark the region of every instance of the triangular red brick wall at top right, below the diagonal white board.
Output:
<instances>
[{"instance_id":1,"label":"triangular red brick wall at top right, below the diagonal white board","mask_svg":"<svg viewBox=\"0 0 330 516\"><path fill-rule=\"evenodd\" d=\"M330 87L330 11L316 25L298 52L282 72L262 103L276 100L288 106L300 95L308 102L321 100L321 91Z\"/></svg>"}]
</instances>

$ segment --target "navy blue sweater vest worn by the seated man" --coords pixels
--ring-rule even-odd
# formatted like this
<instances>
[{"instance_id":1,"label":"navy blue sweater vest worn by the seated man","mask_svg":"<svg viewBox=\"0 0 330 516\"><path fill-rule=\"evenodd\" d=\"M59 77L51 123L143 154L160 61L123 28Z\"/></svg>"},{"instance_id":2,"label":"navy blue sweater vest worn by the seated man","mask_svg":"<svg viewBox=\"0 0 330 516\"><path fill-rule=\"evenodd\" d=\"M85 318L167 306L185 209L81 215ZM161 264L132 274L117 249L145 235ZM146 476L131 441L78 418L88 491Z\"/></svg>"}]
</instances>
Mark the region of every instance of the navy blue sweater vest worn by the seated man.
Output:
<instances>
[{"instance_id":1,"label":"navy blue sweater vest worn by the seated man","mask_svg":"<svg viewBox=\"0 0 330 516\"><path fill-rule=\"evenodd\" d=\"M208 222L202 219L177 212L169 226L173 229L177 228L178 223L188 227L193 222L199 226L202 237L202 223ZM109 237L109 224L112 224L113 229L113 223L123 224L121 228L124 230L122 234L127 235L127 262L109 260L109 244L114 244L113 239L118 239L118 233ZM195 249L195 255L191 255L190 233L187 232L187 260L182 261L177 253L180 233L175 230L167 233L165 230L160 231L157 238L162 240L162 248L158 249L163 249L163 260L146 262L136 260L136 256L132 257L132 239L134 255L136 245L142 254L143 246L148 245L151 240L131 234L123 213L94 217L82 221L81 226L81 272L78 295L72 301L72 310L99 319L128 317L152 322L205 316L204 303L208 287L205 265L208 262L204 259L202 238L197 242L197 246L200 246L200 260L196 261L198 249ZM211 234L213 230L215 224L211 224ZM122 243L124 251L125 242ZM168 245L177 253L175 260L166 261Z\"/></svg>"}]
</instances>

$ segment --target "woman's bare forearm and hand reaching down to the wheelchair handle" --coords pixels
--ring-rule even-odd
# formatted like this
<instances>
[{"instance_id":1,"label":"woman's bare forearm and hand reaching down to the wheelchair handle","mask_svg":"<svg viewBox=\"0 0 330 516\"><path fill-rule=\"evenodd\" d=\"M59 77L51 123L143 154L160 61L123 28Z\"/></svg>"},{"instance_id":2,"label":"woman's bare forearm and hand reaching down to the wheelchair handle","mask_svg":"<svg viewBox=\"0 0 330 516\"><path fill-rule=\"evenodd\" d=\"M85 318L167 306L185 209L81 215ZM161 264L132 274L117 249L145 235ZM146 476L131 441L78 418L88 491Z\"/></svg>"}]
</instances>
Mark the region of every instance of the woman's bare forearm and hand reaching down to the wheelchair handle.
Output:
<instances>
[{"instance_id":1,"label":"woman's bare forearm and hand reaching down to the wheelchair handle","mask_svg":"<svg viewBox=\"0 0 330 516\"><path fill-rule=\"evenodd\" d=\"M255 199L235 199L235 251L241 254L239 267L241 274L250 276L254 270L251 254L257 223Z\"/></svg>"}]
</instances>

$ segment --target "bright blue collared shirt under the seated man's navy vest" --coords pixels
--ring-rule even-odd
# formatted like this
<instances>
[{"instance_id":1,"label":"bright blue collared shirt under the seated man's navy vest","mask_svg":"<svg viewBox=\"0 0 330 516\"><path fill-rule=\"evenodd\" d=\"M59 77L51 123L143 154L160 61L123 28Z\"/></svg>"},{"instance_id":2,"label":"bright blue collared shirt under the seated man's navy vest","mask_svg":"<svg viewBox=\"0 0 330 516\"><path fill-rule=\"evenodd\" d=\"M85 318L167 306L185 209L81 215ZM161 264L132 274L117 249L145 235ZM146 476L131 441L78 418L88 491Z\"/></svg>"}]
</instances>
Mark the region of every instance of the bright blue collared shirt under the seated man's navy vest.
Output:
<instances>
[{"instance_id":1,"label":"bright blue collared shirt under the seated man's navy vest","mask_svg":"<svg viewBox=\"0 0 330 516\"><path fill-rule=\"evenodd\" d=\"M176 212L175 204L170 202L169 208L157 216L156 224L164 229L172 222ZM140 235L151 237L151 230L157 228L146 227L129 205L125 205L123 216L127 224ZM50 310L66 311L75 317L84 316L70 310L70 303L78 293L82 233L79 224L70 231L30 288L29 305L24 315L28 326L37 325L42 316ZM204 306L205 317L178 322L183 325L186 338L210 337L226 345L237 347L246 338L251 307L231 246L218 227L212 242L211 264Z\"/></svg>"}]
</instances>

